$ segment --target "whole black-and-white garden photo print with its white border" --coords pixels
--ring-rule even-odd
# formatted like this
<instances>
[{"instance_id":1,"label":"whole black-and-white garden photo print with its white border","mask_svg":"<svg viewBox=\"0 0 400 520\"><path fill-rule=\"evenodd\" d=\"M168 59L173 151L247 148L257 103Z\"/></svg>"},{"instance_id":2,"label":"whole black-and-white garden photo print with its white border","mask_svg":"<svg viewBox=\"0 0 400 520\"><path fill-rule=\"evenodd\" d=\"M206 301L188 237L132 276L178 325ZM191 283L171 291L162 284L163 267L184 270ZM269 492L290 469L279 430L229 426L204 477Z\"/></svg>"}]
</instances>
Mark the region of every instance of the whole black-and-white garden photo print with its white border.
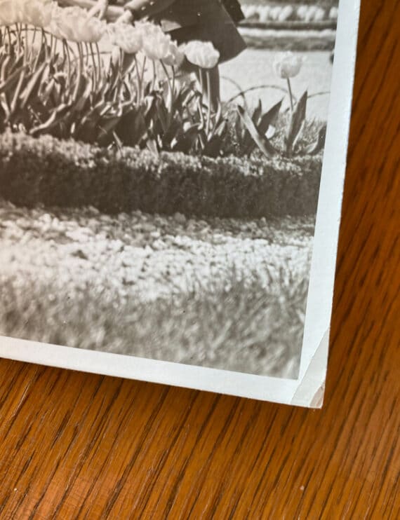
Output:
<instances>
[{"instance_id":1,"label":"whole black-and-white garden photo print with its white border","mask_svg":"<svg viewBox=\"0 0 400 520\"><path fill-rule=\"evenodd\" d=\"M0 356L321 406L358 10L0 1Z\"/></svg>"}]
</instances>

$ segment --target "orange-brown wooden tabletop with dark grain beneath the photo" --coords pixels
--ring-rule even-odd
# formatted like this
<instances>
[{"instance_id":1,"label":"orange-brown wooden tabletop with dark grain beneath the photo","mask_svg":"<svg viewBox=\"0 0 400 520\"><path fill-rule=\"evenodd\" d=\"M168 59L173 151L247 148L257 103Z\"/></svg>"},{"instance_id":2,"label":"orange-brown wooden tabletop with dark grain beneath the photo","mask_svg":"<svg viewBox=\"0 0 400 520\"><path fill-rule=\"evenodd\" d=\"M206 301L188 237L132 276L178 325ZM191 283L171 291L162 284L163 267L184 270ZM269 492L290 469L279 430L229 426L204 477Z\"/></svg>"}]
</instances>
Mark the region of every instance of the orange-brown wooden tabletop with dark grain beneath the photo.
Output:
<instances>
[{"instance_id":1,"label":"orange-brown wooden tabletop with dark grain beneath the photo","mask_svg":"<svg viewBox=\"0 0 400 520\"><path fill-rule=\"evenodd\" d=\"M399 21L364 1L322 411L0 360L1 519L398 519Z\"/></svg>"}]
</instances>

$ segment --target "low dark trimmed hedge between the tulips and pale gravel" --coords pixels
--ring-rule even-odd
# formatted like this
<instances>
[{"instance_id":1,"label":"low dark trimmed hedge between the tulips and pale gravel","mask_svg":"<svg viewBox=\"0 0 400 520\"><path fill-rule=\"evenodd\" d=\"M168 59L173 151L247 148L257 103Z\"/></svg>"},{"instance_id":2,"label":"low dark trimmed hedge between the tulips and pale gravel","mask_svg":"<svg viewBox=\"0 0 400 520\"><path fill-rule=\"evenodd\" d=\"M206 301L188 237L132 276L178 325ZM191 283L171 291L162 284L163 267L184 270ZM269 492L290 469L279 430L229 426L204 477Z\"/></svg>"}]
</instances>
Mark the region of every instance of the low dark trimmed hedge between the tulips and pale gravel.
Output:
<instances>
[{"instance_id":1,"label":"low dark trimmed hedge between the tulips and pale gravel","mask_svg":"<svg viewBox=\"0 0 400 520\"><path fill-rule=\"evenodd\" d=\"M218 158L102 149L73 140L0 135L0 196L15 205L107 213L258 218L314 214L321 156Z\"/></svg>"}]
</instances>

